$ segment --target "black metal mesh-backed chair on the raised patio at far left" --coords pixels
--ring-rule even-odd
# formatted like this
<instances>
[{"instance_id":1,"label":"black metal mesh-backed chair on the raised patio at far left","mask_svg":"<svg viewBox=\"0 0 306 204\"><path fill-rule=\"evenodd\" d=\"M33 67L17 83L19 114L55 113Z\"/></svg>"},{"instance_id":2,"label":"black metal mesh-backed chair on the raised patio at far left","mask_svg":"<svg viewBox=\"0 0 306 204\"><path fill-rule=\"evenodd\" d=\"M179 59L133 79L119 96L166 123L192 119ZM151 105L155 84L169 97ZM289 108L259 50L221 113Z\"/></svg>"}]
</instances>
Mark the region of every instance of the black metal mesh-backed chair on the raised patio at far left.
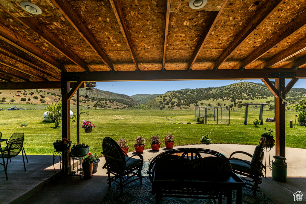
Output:
<instances>
[{"instance_id":1,"label":"black metal mesh-backed chair on the raised patio at far left","mask_svg":"<svg viewBox=\"0 0 306 204\"><path fill-rule=\"evenodd\" d=\"M22 150L22 145L23 145L23 140L24 138L17 138L17 139L11 139L4 150L2 150L2 154L0 155L0 158L7 158L6 160L6 168L5 170L7 171L7 164L9 162L9 158L16 157L20 152L22 152L22 158L23 158L23 165L24 165L24 171L25 169L25 163L24 163L24 156L23 156L23 150ZM4 160L3 160L4 161ZM5 165L5 164L3 164Z\"/></svg>"}]
</instances>

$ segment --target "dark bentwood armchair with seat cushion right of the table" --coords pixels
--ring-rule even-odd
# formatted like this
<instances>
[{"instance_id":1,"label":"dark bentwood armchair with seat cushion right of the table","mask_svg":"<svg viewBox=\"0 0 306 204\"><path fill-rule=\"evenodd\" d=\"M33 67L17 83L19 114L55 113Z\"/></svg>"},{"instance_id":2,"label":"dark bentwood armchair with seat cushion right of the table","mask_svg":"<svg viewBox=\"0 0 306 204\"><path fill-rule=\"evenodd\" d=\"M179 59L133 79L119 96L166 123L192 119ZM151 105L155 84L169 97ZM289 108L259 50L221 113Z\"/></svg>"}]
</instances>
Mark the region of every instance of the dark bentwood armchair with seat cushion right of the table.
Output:
<instances>
[{"instance_id":1,"label":"dark bentwood armchair with seat cushion right of the table","mask_svg":"<svg viewBox=\"0 0 306 204\"><path fill-rule=\"evenodd\" d=\"M265 143L265 138L260 143L260 145L255 147L254 154L249 154L247 152L243 151L236 151L233 152L230 155L229 161L232 165L233 172L247 176L248 178L252 180L248 180L246 178L243 178L243 180L251 182L251 184L247 183L247 185L251 186L245 186L248 188L251 188L253 190L253 196L256 196L256 191L259 191L260 188L258 185L262 183L261 177L263 177L263 169L266 168L262 162L263 162L263 147ZM239 158L232 158L234 154L246 154L249 157L252 158L251 161L239 159Z\"/></svg>"}]
</instances>

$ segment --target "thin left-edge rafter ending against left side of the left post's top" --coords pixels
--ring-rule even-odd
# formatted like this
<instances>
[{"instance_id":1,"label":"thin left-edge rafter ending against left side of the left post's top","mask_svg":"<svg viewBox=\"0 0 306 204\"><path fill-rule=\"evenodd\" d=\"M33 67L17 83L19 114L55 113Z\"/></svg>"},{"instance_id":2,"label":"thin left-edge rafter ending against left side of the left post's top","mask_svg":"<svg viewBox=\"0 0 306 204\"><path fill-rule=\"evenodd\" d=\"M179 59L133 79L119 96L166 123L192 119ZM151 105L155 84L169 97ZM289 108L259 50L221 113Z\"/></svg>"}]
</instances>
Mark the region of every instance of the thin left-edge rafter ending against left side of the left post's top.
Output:
<instances>
[{"instance_id":1,"label":"thin left-edge rafter ending against left side of the left post's top","mask_svg":"<svg viewBox=\"0 0 306 204\"><path fill-rule=\"evenodd\" d=\"M24 57L19 56L18 54L15 54L9 50L6 50L5 48L0 46L0 51L2 52L3 55L9 57L9 58L15 58L14 60L17 60L19 63L24 64L26 66L31 67L32 69L35 69L39 72L42 72L44 74L47 74L48 76L51 76L57 80L61 80L61 76L55 74L52 71L49 71L48 69L39 67L38 65L35 65L34 63L32 63L31 61L29 61L28 59L25 59ZM53 68L52 68L53 69Z\"/></svg>"}]
</instances>

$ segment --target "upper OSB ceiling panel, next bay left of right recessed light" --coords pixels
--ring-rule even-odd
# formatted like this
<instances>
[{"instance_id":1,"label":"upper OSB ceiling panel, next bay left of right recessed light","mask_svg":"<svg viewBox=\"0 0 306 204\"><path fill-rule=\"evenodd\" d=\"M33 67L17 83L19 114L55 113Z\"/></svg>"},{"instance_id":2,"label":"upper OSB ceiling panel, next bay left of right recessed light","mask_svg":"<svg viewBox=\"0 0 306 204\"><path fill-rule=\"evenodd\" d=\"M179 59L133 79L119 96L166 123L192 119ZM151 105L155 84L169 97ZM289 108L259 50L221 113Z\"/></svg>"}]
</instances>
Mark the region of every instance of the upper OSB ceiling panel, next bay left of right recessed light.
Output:
<instances>
[{"instance_id":1,"label":"upper OSB ceiling panel, next bay left of right recessed light","mask_svg":"<svg viewBox=\"0 0 306 204\"><path fill-rule=\"evenodd\" d=\"M166 1L120 2L135 53L138 50L163 49Z\"/></svg>"}]
</instances>

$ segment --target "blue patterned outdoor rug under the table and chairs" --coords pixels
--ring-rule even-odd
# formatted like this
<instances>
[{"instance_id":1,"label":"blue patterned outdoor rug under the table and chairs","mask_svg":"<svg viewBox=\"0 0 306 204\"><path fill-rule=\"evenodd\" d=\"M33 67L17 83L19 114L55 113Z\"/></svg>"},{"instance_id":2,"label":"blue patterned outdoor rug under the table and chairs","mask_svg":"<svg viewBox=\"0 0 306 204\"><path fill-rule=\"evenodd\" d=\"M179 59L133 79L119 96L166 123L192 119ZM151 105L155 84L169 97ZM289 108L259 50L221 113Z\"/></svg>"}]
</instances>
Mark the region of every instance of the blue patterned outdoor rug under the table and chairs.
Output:
<instances>
[{"instance_id":1,"label":"blue patterned outdoor rug under the table and chairs","mask_svg":"<svg viewBox=\"0 0 306 204\"><path fill-rule=\"evenodd\" d=\"M154 195L151 194L152 184L147 176L149 169L149 161L144 161L142 175L142 186L140 180L136 180L127 186L123 187L123 194L120 194L120 188L117 189L116 184L112 184L107 192L102 204L155 204ZM242 203L243 204L275 204L270 198L262 192L257 192L257 196L253 196L253 191L249 188L242 190ZM236 203L236 191L232 193L232 200ZM162 198L162 204L211 204L208 199L192 199L192 198ZM226 204L226 198L222 204Z\"/></svg>"}]
</instances>

